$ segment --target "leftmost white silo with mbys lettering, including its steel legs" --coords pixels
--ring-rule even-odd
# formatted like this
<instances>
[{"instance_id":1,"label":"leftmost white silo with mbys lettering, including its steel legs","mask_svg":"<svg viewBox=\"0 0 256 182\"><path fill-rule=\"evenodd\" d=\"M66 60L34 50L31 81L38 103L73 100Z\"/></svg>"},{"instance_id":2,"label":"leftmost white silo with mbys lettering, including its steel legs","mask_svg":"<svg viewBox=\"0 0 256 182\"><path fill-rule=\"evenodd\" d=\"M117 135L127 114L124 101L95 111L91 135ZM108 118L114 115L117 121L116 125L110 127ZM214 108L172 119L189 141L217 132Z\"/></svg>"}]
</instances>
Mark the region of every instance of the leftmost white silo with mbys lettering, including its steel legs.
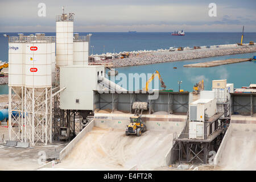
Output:
<instances>
[{"instance_id":1,"label":"leftmost white silo with mbys lettering, including its steel legs","mask_svg":"<svg viewBox=\"0 0 256 182\"><path fill-rule=\"evenodd\" d=\"M9 37L9 139L22 141L24 137L24 57L25 39L23 34ZM13 93L13 94L12 94ZM15 113L15 117L13 115ZM16 114L18 113L18 114ZM21 133L18 131L22 131Z\"/></svg>"}]
</instances>

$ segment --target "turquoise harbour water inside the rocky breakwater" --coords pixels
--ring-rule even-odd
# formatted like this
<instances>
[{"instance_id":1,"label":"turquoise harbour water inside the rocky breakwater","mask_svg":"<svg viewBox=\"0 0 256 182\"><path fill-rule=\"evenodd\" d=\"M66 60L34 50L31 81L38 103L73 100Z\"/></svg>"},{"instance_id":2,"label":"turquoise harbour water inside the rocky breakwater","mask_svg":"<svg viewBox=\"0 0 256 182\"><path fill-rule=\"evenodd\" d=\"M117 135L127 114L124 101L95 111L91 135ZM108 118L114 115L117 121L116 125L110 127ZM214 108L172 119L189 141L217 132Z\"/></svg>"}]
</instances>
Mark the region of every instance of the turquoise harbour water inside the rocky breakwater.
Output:
<instances>
[{"instance_id":1,"label":"turquoise harbour water inside the rocky breakwater","mask_svg":"<svg viewBox=\"0 0 256 182\"><path fill-rule=\"evenodd\" d=\"M128 73L153 73L155 70L158 70L167 86L166 89L174 89L174 91L179 89L177 81L182 81L182 84L180 85L181 89L191 92L193 90L193 85L202 79L204 79L206 90L212 88L212 80L220 79L227 79L228 83L234 83L234 88L241 88L241 86L249 86L250 83L256 84L256 64L254 61L210 68L184 68L183 65L230 58L247 58L253 57L254 55L256 55L255 52L170 63L140 65L135 67L123 67L117 68L117 70L118 73L125 73L125 75L128 75ZM177 67L177 69L173 69L174 67ZM139 87L135 87L134 90L142 89L142 87L144 87L144 85L139 85Z\"/></svg>"}]
</instances>

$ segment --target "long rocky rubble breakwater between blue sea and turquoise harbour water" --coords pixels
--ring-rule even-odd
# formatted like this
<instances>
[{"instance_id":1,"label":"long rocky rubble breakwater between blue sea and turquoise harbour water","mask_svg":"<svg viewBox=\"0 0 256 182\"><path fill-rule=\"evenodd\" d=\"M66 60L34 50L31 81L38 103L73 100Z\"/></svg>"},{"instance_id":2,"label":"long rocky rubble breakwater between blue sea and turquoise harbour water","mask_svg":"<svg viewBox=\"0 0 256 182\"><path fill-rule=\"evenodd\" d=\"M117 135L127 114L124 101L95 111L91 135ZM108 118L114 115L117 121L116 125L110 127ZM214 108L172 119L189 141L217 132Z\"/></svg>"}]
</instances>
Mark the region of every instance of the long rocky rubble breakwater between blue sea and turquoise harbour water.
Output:
<instances>
[{"instance_id":1,"label":"long rocky rubble breakwater between blue sea and turquoise harbour water","mask_svg":"<svg viewBox=\"0 0 256 182\"><path fill-rule=\"evenodd\" d=\"M98 60L94 63L108 65L108 67L112 68L118 68L130 67L135 65L166 63L171 61L201 59L205 57L234 55L249 52L256 52L256 46L189 49L184 51L166 51L159 53L140 53L137 55L131 55L129 58Z\"/></svg>"}]
</instances>

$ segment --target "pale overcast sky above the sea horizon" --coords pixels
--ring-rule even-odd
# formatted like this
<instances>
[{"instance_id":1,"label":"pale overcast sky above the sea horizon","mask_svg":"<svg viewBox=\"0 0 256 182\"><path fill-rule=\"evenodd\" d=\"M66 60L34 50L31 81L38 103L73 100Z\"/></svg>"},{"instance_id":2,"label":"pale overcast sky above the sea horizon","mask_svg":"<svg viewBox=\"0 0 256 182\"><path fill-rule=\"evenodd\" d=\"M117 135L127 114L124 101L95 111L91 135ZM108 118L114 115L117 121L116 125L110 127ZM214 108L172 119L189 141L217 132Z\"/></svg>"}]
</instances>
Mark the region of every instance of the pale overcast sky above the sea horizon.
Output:
<instances>
[{"instance_id":1,"label":"pale overcast sky above the sea horizon","mask_svg":"<svg viewBox=\"0 0 256 182\"><path fill-rule=\"evenodd\" d=\"M46 16L38 16L38 4ZM217 16L210 17L209 3ZM55 16L75 13L76 32L256 32L254 0L0 0L0 32L55 32Z\"/></svg>"}]
</instances>

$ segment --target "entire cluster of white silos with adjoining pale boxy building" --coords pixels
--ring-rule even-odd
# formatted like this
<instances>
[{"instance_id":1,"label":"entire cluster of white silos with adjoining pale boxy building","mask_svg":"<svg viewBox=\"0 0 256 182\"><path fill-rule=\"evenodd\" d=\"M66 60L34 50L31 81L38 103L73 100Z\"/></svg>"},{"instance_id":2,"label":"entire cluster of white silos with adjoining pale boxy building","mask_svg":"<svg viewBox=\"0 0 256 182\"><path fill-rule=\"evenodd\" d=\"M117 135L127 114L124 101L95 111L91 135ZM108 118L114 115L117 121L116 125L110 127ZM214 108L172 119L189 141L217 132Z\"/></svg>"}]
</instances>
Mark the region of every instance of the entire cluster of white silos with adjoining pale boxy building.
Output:
<instances>
[{"instance_id":1,"label":"entire cluster of white silos with adjoining pale boxy building","mask_svg":"<svg viewBox=\"0 0 256 182\"><path fill-rule=\"evenodd\" d=\"M9 37L10 140L30 142L32 146L37 142L47 144L52 141L52 97L56 95L52 90L55 90L55 93L65 90L66 93L60 101L64 102L61 105L71 105L69 109L75 109L69 102L74 102L75 105L86 104L89 97L93 99L98 73L103 76L105 68L88 65L91 34L73 34L73 15L63 13L56 16L56 39L55 36L45 34L18 34ZM71 77L65 72L59 77L56 72L61 69L80 75ZM72 85L72 82L79 80L79 77L85 81L82 74L94 78L81 90L77 85L81 86L82 83L75 82L75 85ZM68 82L61 85L61 80ZM78 94L70 97L72 89ZM89 92L87 97L81 97L79 92L85 92L83 89ZM77 103L77 100L80 103ZM82 105L79 108L93 110L92 104L90 107Z\"/></svg>"}]
</instances>

